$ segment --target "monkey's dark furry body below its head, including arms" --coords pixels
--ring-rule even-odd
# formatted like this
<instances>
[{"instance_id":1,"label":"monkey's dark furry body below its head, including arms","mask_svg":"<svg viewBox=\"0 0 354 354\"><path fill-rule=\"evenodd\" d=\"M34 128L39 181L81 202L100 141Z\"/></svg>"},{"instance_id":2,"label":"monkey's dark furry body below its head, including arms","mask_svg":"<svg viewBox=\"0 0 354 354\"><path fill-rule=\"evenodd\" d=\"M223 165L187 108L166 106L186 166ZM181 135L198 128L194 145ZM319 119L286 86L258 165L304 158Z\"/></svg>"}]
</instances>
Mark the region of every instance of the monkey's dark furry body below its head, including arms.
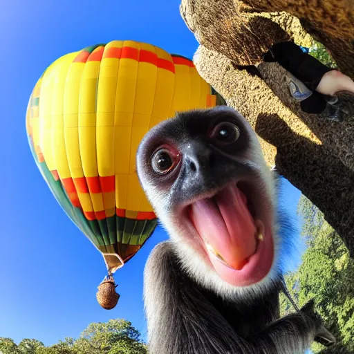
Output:
<instances>
[{"instance_id":1,"label":"monkey's dark furry body below its head, including arms","mask_svg":"<svg viewBox=\"0 0 354 354\"><path fill-rule=\"evenodd\" d=\"M257 301L225 301L183 272L171 241L160 243L145 268L149 353L304 353L320 323L304 313L277 320L279 288Z\"/></svg>"}]
</instances>

